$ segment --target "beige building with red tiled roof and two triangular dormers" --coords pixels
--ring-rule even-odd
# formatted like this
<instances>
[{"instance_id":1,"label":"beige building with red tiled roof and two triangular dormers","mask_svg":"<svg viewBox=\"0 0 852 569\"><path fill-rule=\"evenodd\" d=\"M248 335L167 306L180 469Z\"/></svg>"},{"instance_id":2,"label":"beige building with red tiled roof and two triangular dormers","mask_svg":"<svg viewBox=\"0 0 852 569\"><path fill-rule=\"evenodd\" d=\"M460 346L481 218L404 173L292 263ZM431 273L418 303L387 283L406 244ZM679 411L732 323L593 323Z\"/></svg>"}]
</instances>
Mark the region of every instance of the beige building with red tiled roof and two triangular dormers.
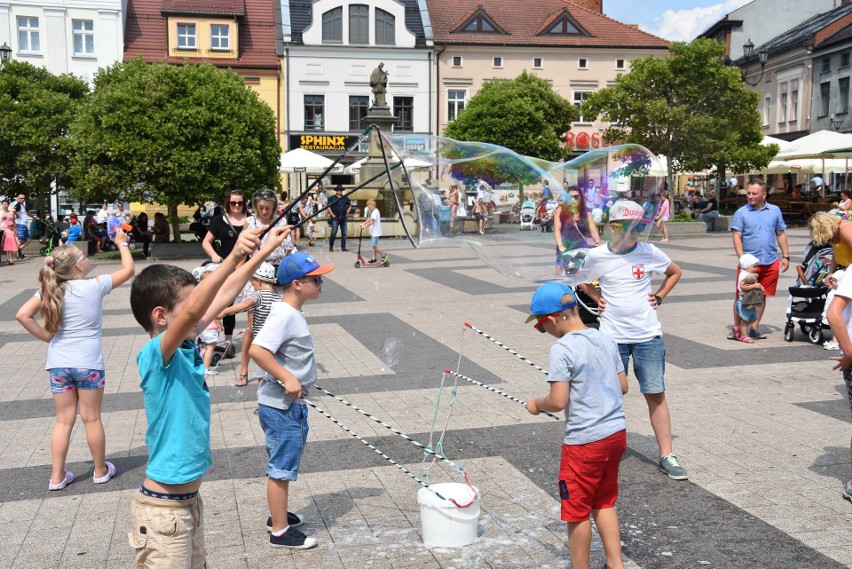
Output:
<instances>
[{"instance_id":1,"label":"beige building with red tiled roof and two triangular dormers","mask_svg":"<svg viewBox=\"0 0 852 569\"><path fill-rule=\"evenodd\" d=\"M632 60L668 55L666 40L604 16L599 0L541 0L535 10L501 0L426 2L435 37L436 133L488 81L528 71L579 106L612 86ZM577 152L599 147L605 127L581 117L566 145Z\"/></svg>"}]
</instances>

